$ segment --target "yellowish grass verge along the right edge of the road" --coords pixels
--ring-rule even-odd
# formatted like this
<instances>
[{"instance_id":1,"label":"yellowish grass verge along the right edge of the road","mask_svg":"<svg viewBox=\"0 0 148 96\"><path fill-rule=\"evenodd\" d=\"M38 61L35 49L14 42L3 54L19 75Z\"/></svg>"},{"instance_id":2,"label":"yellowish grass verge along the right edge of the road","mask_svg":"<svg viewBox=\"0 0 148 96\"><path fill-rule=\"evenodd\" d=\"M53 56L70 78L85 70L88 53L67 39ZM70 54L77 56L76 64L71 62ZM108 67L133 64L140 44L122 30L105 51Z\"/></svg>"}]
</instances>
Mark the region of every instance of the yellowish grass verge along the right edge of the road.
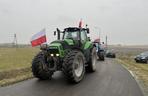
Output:
<instances>
[{"instance_id":1,"label":"yellowish grass verge along the right edge of the road","mask_svg":"<svg viewBox=\"0 0 148 96\"><path fill-rule=\"evenodd\" d=\"M136 79L138 79L142 89L144 90L144 95L148 96L148 66L146 64L135 63L128 59L116 59L116 61L135 73L137 77Z\"/></svg>"}]
</instances>

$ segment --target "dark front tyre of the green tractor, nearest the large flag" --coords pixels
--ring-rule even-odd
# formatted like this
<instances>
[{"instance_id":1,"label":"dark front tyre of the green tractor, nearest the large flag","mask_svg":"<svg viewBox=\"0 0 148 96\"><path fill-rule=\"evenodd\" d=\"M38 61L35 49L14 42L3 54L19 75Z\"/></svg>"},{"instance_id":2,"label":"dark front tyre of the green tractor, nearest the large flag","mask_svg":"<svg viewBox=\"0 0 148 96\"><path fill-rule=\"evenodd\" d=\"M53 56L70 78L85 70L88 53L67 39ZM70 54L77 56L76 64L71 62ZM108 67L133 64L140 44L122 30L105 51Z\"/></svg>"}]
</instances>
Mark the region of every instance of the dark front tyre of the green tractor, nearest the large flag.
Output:
<instances>
[{"instance_id":1,"label":"dark front tyre of the green tractor, nearest the large flag","mask_svg":"<svg viewBox=\"0 0 148 96\"><path fill-rule=\"evenodd\" d=\"M53 72L48 70L44 52L39 52L32 61L33 75L41 80L51 79Z\"/></svg>"}]
</instances>

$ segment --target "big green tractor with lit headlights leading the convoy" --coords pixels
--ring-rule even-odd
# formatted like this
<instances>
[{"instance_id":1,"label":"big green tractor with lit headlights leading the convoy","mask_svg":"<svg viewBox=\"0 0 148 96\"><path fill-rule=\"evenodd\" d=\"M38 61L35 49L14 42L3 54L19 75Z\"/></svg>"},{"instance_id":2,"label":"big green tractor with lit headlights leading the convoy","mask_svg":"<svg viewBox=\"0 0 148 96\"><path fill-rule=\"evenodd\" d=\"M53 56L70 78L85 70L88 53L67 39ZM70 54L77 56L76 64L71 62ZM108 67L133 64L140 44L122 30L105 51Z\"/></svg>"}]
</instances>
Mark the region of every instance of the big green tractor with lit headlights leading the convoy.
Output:
<instances>
[{"instance_id":1,"label":"big green tractor with lit headlights leading the convoy","mask_svg":"<svg viewBox=\"0 0 148 96\"><path fill-rule=\"evenodd\" d=\"M54 35L57 34L58 40L41 46L41 51L34 57L33 75L45 80L51 79L55 71L62 71L68 81L78 83L86 71L94 72L97 53L88 33L88 28L69 27L64 31L57 28Z\"/></svg>"}]
</instances>

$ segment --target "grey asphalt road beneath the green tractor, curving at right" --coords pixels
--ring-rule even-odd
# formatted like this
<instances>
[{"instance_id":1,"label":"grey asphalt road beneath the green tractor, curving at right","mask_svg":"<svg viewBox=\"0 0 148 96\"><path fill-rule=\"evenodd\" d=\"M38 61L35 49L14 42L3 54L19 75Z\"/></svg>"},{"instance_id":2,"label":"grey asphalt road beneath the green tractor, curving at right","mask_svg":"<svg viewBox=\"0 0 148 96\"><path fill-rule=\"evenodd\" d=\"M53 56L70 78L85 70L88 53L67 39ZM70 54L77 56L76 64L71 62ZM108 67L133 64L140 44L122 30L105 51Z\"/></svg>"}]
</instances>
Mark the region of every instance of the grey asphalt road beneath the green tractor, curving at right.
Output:
<instances>
[{"instance_id":1,"label":"grey asphalt road beneath the green tractor, curving at right","mask_svg":"<svg viewBox=\"0 0 148 96\"><path fill-rule=\"evenodd\" d=\"M57 72L53 79L31 79L0 88L0 96L143 96L135 79L113 59L99 61L97 71L79 84L69 84Z\"/></svg>"}]
</instances>

